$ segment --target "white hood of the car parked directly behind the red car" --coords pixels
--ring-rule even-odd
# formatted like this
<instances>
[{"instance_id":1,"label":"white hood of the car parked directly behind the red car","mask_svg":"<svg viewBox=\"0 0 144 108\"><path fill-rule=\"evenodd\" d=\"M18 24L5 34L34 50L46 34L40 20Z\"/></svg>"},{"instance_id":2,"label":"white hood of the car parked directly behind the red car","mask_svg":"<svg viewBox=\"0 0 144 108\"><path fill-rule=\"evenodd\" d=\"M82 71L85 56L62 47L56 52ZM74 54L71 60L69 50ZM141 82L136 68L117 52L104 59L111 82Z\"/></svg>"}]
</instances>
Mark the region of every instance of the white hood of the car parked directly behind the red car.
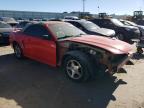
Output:
<instances>
[{"instance_id":1,"label":"white hood of the car parked directly behind the red car","mask_svg":"<svg viewBox=\"0 0 144 108\"><path fill-rule=\"evenodd\" d=\"M106 28L97 28L97 29L91 29L92 32L97 32L99 34L102 34L104 36L114 36L115 31L111 29L106 29Z\"/></svg>"}]
</instances>

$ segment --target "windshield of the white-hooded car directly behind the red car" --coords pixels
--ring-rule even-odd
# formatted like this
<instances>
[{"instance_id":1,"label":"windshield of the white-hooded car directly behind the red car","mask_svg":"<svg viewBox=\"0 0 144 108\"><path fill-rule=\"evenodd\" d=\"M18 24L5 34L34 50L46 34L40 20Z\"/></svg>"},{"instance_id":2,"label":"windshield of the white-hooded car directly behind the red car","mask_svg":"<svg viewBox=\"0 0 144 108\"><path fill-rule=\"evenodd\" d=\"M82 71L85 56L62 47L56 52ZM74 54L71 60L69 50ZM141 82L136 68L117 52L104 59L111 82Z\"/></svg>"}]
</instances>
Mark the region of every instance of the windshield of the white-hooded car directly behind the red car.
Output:
<instances>
[{"instance_id":1,"label":"windshield of the white-hooded car directly behind the red car","mask_svg":"<svg viewBox=\"0 0 144 108\"><path fill-rule=\"evenodd\" d=\"M90 21L83 21L83 22L80 22L80 23L81 23L81 25L83 25L88 30L94 30L94 29L100 28L99 26L97 26L96 24L94 24Z\"/></svg>"}]
</instances>

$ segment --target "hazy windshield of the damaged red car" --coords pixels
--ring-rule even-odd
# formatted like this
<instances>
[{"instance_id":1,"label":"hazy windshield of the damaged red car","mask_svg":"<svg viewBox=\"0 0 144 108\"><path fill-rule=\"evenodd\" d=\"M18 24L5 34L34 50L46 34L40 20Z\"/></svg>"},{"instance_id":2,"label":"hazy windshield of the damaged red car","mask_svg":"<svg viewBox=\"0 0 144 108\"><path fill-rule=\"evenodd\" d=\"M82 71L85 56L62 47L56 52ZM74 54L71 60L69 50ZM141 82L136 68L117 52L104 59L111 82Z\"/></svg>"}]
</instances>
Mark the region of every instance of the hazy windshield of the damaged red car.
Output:
<instances>
[{"instance_id":1,"label":"hazy windshield of the damaged red car","mask_svg":"<svg viewBox=\"0 0 144 108\"><path fill-rule=\"evenodd\" d=\"M58 39L76 37L85 34L83 31L69 23L49 24L49 28L57 36Z\"/></svg>"}]
</instances>

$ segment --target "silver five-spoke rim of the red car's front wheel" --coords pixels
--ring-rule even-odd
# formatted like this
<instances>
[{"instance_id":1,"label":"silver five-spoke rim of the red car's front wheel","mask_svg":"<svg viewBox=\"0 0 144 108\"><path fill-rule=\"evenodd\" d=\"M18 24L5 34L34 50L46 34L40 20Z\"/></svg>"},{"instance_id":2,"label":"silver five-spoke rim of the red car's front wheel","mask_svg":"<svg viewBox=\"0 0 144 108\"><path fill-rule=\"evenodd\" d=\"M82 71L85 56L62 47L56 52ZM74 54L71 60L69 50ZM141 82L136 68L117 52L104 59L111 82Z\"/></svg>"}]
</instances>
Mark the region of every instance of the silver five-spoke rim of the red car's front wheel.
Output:
<instances>
[{"instance_id":1,"label":"silver five-spoke rim of the red car's front wheel","mask_svg":"<svg viewBox=\"0 0 144 108\"><path fill-rule=\"evenodd\" d=\"M80 79L82 77L82 66L76 60L69 60L66 67L67 74L72 79Z\"/></svg>"}]
</instances>

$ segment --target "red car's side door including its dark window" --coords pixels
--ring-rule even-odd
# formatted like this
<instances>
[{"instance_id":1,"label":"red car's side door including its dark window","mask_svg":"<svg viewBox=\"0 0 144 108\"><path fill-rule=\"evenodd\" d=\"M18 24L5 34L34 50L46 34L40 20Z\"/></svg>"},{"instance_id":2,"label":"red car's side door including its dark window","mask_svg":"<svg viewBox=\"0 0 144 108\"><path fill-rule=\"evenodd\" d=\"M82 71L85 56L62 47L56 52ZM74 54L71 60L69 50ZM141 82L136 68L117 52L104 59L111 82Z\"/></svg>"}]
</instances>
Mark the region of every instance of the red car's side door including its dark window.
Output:
<instances>
[{"instance_id":1,"label":"red car's side door including its dark window","mask_svg":"<svg viewBox=\"0 0 144 108\"><path fill-rule=\"evenodd\" d=\"M35 24L31 31L31 56L40 62L56 66L56 43L47 28L42 24Z\"/></svg>"}]
</instances>

